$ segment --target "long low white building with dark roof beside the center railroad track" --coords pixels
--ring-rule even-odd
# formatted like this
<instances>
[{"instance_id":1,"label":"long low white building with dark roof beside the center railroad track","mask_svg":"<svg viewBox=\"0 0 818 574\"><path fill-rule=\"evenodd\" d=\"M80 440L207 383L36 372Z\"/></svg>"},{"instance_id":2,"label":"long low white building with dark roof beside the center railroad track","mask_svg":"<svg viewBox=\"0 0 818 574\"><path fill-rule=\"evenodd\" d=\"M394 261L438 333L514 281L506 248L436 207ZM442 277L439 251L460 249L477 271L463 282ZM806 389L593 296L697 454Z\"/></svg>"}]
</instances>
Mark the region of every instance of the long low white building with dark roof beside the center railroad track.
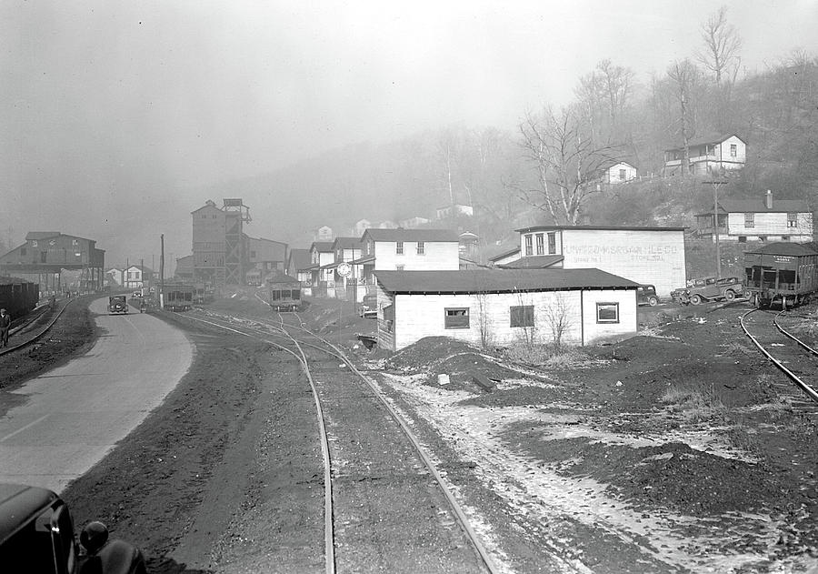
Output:
<instances>
[{"instance_id":1,"label":"long low white building with dark roof beside the center railroad track","mask_svg":"<svg viewBox=\"0 0 818 574\"><path fill-rule=\"evenodd\" d=\"M636 334L633 281L599 269L375 271L378 347L399 350L423 337L476 345L567 345Z\"/></svg>"}]
</instances>

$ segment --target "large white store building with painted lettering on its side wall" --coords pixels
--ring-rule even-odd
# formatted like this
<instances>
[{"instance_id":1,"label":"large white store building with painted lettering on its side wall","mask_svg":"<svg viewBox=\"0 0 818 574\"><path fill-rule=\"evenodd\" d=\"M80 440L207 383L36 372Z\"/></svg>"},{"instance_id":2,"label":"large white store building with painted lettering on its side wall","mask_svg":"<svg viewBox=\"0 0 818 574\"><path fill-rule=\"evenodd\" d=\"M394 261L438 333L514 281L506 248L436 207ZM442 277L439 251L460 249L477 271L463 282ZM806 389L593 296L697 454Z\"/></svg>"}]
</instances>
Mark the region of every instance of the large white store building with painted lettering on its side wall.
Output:
<instances>
[{"instance_id":1,"label":"large white store building with painted lettering on its side wall","mask_svg":"<svg viewBox=\"0 0 818 574\"><path fill-rule=\"evenodd\" d=\"M520 247L494 257L504 269L595 267L650 284L663 296L683 286L684 227L539 226L517 229ZM498 263L502 257L504 263Z\"/></svg>"}]
</instances>

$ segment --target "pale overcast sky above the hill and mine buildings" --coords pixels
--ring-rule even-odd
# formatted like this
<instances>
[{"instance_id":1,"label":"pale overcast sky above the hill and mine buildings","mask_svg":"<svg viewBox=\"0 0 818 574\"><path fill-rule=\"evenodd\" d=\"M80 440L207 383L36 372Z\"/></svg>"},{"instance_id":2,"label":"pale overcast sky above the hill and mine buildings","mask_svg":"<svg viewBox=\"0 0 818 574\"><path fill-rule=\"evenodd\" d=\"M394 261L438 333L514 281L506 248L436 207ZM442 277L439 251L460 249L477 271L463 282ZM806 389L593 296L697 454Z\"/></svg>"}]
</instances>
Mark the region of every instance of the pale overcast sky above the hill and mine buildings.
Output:
<instances>
[{"instance_id":1,"label":"pale overcast sky above the hill and mine buildings","mask_svg":"<svg viewBox=\"0 0 818 574\"><path fill-rule=\"evenodd\" d=\"M723 4L747 70L818 54L818 0ZM603 58L663 74L719 5L5 0L0 237L111 237L100 222L122 225L122 206L185 186L454 123L512 128Z\"/></svg>"}]
</instances>

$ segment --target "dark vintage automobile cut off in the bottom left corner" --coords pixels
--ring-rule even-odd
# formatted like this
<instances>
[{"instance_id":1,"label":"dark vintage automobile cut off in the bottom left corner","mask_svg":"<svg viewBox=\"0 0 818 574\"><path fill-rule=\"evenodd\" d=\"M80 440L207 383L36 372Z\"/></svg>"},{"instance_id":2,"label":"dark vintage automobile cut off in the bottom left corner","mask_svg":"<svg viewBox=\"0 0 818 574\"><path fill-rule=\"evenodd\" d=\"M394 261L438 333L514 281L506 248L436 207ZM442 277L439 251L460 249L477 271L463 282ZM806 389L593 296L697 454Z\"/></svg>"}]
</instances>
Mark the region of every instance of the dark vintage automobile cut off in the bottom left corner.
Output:
<instances>
[{"instance_id":1,"label":"dark vintage automobile cut off in the bottom left corner","mask_svg":"<svg viewBox=\"0 0 818 574\"><path fill-rule=\"evenodd\" d=\"M37 574L145 574L134 545L108 540L102 522L80 534L80 555L68 506L46 488L0 483L0 566L4 572Z\"/></svg>"}]
</instances>

